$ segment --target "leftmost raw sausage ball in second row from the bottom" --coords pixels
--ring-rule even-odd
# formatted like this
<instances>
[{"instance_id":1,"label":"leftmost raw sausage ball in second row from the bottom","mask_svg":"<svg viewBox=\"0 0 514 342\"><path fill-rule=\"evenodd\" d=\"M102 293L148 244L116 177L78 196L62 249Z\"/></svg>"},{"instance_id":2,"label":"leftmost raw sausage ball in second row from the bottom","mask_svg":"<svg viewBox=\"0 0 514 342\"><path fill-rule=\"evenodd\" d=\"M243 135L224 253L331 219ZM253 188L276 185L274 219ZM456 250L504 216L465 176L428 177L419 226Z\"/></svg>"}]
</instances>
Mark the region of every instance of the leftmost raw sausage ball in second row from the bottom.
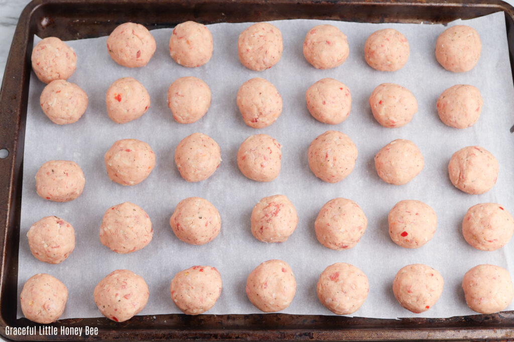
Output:
<instances>
[{"instance_id":1,"label":"leftmost raw sausage ball in second row from the bottom","mask_svg":"<svg viewBox=\"0 0 514 342\"><path fill-rule=\"evenodd\" d=\"M32 255L44 263L60 264L75 248L75 230L57 216L46 216L27 232Z\"/></svg>"}]
</instances>

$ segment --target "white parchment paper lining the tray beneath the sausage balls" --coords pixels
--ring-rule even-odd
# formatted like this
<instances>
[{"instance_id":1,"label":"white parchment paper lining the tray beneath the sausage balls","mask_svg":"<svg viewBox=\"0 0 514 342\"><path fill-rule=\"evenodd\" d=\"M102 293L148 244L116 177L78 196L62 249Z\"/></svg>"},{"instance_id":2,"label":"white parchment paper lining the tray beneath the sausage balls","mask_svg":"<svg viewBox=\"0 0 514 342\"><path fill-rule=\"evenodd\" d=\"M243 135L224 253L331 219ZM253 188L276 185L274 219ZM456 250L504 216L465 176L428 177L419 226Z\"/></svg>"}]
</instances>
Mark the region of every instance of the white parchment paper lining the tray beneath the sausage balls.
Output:
<instances>
[{"instance_id":1,"label":"white parchment paper lining the tray beneath the sausage balls","mask_svg":"<svg viewBox=\"0 0 514 342\"><path fill-rule=\"evenodd\" d=\"M260 313L245 294L246 277L262 261L285 260L295 273L297 293L283 310L290 314L331 315L316 295L319 274L328 265L346 262L360 268L369 278L370 292L353 315L361 317L449 317L473 314L461 288L464 273L478 264L494 264L514 274L514 250L504 248L484 252L470 247L461 233L467 209L477 203L496 202L514 213L514 88L506 44L503 13L465 21L482 39L482 57L469 72L455 74L437 63L433 50L443 25L357 24L314 20L271 22L282 32L284 52L281 61L263 72L244 68L237 58L237 36L250 23L209 25L214 53L206 65L184 68L169 56L172 29L152 31L157 51L143 68L128 69L115 64L105 48L106 37L72 41L68 44L78 56L77 71L68 81L78 84L89 96L89 107L75 124L58 126L46 118L39 105L44 84L32 73L27 112L24 152L22 213L20 227L18 294L35 273L59 278L69 291L61 318L99 317L93 290L105 275L115 269L130 269L141 275L150 288L150 299L141 315L180 313L169 294L174 274L193 265L216 267L222 275L223 290L209 314ZM317 70L303 57L305 33L319 24L332 24L348 36L350 56L335 69ZM450 25L454 25L452 23ZM388 73L370 68L363 57L366 38L375 30L395 28L410 43L407 65ZM34 44L40 39L34 37ZM149 91L152 105L138 120L118 125L108 118L105 91L117 78L132 76ZM167 89L178 77L197 76L211 88L208 113L194 124L180 125L167 107ZM270 127L254 130L243 123L235 97L237 89L252 77L273 83L283 98L283 112ZM305 90L323 77L336 78L350 88L350 116L336 126L317 122L305 107ZM373 89L385 82L410 89L418 102L418 112L405 127L387 129L375 122L368 104ZM471 84L479 88L484 106L472 128L457 130L440 122L435 103L446 88ZM354 171L337 184L324 183L309 170L307 148L319 134L329 129L348 134L359 150ZM222 150L223 162L207 180L188 183L173 161L178 142L193 132L208 134ZM237 149L251 134L266 133L282 144L282 170L270 183L247 179L238 170ZM137 138L150 144L157 158L151 175L139 185L123 187L111 182L105 172L103 155L118 139ZM396 138L412 140L425 158L425 168L407 185L384 183L376 174L375 153ZM453 152L469 145L481 145L500 164L497 184L482 195L469 195L455 189L448 179L447 165ZM35 173L50 159L69 159L84 171L86 185L76 200L53 203L35 192ZM264 196L285 194L295 205L299 224L287 242L265 244L250 232L250 214ZM180 242L169 226L176 204L183 198L208 199L222 217L222 230L204 246ZM318 243L314 220L329 199L355 200L368 218L368 229L353 249L334 251ZM389 210L402 199L417 199L430 205L438 218L437 231L424 247L410 250L395 245L388 234ZM144 249L126 255L101 245L98 232L105 210L122 202L141 206L152 219L154 237ZM57 215L75 227L76 248L62 264L49 265L30 253L26 233L43 216ZM400 307L392 292L392 280L403 266L422 263L434 267L444 277L445 286L437 304L422 314ZM508 309L514 309L511 304ZM22 317L20 307L17 316Z\"/></svg>"}]
</instances>

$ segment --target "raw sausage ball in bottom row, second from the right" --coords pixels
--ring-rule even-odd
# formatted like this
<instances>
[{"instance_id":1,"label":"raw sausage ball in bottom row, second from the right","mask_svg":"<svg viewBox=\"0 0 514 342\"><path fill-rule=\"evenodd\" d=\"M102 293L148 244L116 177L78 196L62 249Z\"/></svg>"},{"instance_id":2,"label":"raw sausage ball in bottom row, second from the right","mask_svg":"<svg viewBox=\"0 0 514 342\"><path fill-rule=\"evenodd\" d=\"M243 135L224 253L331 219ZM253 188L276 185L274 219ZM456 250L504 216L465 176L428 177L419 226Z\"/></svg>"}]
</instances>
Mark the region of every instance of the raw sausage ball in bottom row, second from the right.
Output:
<instances>
[{"instance_id":1,"label":"raw sausage ball in bottom row, second from the right","mask_svg":"<svg viewBox=\"0 0 514 342\"><path fill-rule=\"evenodd\" d=\"M414 313L425 312L437 302L445 282L443 276L423 264L403 267L393 280L393 293L398 303Z\"/></svg>"}]
</instances>

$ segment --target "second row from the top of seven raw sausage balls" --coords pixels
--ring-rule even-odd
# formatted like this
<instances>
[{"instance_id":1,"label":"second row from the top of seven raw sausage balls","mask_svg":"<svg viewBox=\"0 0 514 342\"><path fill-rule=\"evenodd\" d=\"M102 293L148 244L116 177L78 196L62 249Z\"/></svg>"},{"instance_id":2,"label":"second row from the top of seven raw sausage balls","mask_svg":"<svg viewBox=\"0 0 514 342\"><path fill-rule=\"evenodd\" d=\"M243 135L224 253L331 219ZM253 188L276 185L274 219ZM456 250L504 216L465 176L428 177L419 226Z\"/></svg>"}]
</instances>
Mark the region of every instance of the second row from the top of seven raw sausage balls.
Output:
<instances>
[{"instance_id":1,"label":"second row from the top of seven raw sausage balls","mask_svg":"<svg viewBox=\"0 0 514 342\"><path fill-rule=\"evenodd\" d=\"M323 78L305 92L307 109L319 122L342 123L350 114L350 89L333 78ZM237 107L246 125L264 128L273 124L282 113L282 97L273 84L264 78L251 78L237 91ZM141 117L150 107L150 95L132 77L117 79L105 94L107 115L115 123L124 124ZM405 126L417 112L414 95L405 87L384 83L369 98L373 116L383 127ZM84 114L87 94L76 84L64 80L50 82L41 93L40 105L45 115L59 125L72 124ZM203 117L211 105L209 86L200 78L176 79L168 89L168 107L180 124L191 124ZM482 112L480 91L471 85L455 85L437 99L437 112L450 127L473 126Z\"/></svg>"}]
</instances>

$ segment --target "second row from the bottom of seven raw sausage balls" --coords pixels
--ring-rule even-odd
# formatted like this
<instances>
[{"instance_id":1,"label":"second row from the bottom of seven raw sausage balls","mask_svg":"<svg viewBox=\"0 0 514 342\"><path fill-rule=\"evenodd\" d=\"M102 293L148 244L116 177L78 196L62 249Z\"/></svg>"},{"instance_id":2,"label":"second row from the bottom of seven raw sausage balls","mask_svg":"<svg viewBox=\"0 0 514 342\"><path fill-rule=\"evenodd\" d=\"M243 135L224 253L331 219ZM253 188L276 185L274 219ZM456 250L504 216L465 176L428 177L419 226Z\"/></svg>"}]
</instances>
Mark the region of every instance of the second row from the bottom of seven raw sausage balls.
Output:
<instances>
[{"instance_id":1,"label":"second row from the bottom of seven raw sausage balls","mask_svg":"<svg viewBox=\"0 0 514 342\"><path fill-rule=\"evenodd\" d=\"M252 210L250 229L265 243L282 243L295 231L298 215L284 195L262 198ZM207 199L188 197L181 200L170 217L170 226L182 242L205 245L221 230L221 216ZM362 209L346 198L329 200L314 223L316 237L326 248L344 250L360 241L368 226ZM427 204L418 200L398 202L388 215L389 235L404 248L419 248L432 239L437 216ZM482 203L464 215L462 232L474 248L493 251L507 244L514 233L514 219L502 205ZM120 254L146 247L152 240L149 215L139 206L125 202L105 211L100 225L100 242ZM27 232L32 255L48 264L60 264L75 249L75 230L57 216L46 216Z\"/></svg>"}]
</instances>

